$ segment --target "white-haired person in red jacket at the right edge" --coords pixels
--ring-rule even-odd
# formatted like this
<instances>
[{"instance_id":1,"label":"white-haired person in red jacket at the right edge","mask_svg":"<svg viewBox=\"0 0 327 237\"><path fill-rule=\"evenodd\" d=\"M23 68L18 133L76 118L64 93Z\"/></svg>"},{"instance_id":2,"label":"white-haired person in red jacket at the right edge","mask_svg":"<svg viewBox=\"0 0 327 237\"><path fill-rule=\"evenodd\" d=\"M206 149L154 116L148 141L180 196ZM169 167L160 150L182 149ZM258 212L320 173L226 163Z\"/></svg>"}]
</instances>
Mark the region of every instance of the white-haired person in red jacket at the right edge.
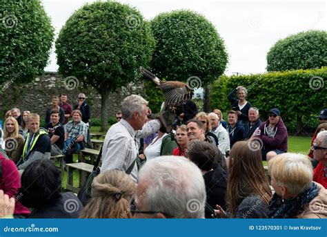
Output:
<instances>
[{"instance_id":1,"label":"white-haired person in red jacket at the right edge","mask_svg":"<svg viewBox=\"0 0 327 237\"><path fill-rule=\"evenodd\" d=\"M319 161L313 173L313 181L327 188L327 131L318 133L313 142L313 158Z\"/></svg>"}]
</instances>

